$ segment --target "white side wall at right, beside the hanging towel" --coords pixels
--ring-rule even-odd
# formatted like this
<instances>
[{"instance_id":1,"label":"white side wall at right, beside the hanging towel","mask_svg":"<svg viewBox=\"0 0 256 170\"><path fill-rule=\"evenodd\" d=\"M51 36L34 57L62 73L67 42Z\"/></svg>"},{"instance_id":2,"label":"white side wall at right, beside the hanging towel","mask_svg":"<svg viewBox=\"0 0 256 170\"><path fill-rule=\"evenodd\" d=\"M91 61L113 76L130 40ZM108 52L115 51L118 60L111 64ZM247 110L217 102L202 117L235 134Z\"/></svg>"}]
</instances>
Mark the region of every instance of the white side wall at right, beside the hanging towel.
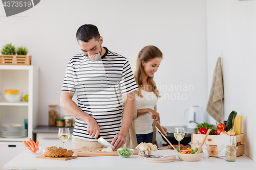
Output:
<instances>
[{"instance_id":1,"label":"white side wall at right, beside the hanging towel","mask_svg":"<svg viewBox=\"0 0 256 170\"><path fill-rule=\"evenodd\" d=\"M222 56L224 119L232 110L243 115L245 154L255 161L256 1L207 0L206 6L208 93Z\"/></svg>"}]
</instances>

